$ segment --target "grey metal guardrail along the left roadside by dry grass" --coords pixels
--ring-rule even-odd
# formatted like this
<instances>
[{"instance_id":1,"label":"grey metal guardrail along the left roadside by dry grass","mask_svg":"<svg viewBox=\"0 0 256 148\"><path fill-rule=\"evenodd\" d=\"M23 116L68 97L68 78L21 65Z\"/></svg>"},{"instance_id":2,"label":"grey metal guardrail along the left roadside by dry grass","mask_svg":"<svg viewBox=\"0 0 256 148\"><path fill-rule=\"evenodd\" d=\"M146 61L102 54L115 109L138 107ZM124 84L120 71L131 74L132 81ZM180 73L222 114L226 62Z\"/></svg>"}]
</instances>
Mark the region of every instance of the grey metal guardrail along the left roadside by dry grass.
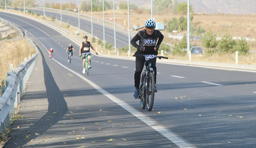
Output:
<instances>
[{"instance_id":1,"label":"grey metal guardrail along the left roadside by dry grass","mask_svg":"<svg viewBox=\"0 0 256 148\"><path fill-rule=\"evenodd\" d=\"M9 22L9 24L11 23ZM35 47L36 54L22 62L12 72L7 73L8 86L5 87L5 91L0 97L0 133L5 133L5 128L10 127L10 119L14 116L14 109L18 108L26 83L36 64L38 49L30 39L28 41Z\"/></svg>"}]
</instances>

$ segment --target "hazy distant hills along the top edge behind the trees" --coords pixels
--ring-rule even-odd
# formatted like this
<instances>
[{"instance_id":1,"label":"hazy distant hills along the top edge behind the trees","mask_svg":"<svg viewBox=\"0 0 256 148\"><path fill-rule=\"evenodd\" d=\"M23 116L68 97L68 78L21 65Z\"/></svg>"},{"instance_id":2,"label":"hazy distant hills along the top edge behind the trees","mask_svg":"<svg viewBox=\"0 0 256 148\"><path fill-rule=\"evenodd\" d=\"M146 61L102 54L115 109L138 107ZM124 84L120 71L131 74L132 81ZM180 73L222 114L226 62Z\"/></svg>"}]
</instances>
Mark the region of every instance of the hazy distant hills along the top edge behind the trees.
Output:
<instances>
[{"instance_id":1,"label":"hazy distant hills along the top edge behind the trees","mask_svg":"<svg viewBox=\"0 0 256 148\"><path fill-rule=\"evenodd\" d=\"M79 0L80 2L82 0ZM107 0L113 1L113 0ZM120 2L127 3L127 0L115 0L118 5ZM173 1L173 0L172 0ZM178 2L187 2L187 0L177 0ZM54 2L55 0L44 0L44 2ZM77 0L62 0L62 3L73 2L77 5ZM148 7L150 9L150 0L129 0L129 3L135 3L141 7ZM42 1L38 2L42 5ZM190 0L194 12L198 13L224 13L224 14L256 14L255 0Z\"/></svg>"}]
</instances>

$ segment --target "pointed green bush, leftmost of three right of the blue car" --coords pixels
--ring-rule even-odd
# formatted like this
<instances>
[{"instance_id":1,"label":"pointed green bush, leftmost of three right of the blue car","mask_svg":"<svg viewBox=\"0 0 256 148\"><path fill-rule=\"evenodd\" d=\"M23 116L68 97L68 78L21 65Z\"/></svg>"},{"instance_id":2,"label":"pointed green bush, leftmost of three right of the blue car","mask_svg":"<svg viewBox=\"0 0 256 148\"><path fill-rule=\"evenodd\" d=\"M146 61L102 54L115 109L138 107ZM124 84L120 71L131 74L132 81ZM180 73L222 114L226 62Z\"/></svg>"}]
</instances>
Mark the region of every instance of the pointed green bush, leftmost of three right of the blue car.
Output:
<instances>
[{"instance_id":1,"label":"pointed green bush, leftmost of three right of the blue car","mask_svg":"<svg viewBox=\"0 0 256 148\"><path fill-rule=\"evenodd\" d=\"M211 30L204 34L202 45L205 48L210 48L210 50L211 48L215 48L218 45L216 41L216 36L213 35L213 32Z\"/></svg>"}]
</instances>

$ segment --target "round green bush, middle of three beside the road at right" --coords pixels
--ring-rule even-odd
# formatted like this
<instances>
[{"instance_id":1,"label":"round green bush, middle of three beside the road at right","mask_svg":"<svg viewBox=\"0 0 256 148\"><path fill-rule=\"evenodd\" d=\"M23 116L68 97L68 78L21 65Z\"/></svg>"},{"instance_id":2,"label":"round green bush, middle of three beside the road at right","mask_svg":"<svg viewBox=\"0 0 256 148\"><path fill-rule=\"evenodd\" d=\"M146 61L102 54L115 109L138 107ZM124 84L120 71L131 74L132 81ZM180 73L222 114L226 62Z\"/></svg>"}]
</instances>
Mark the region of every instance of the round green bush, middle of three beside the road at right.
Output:
<instances>
[{"instance_id":1,"label":"round green bush, middle of three beside the road at right","mask_svg":"<svg viewBox=\"0 0 256 148\"><path fill-rule=\"evenodd\" d=\"M234 52L235 50L233 49L233 47L236 45L235 40L232 38L231 35L224 35L222 39L220 39L219 43L218 43L218 50L220 52Z\"/></svg>"}]
</instances>

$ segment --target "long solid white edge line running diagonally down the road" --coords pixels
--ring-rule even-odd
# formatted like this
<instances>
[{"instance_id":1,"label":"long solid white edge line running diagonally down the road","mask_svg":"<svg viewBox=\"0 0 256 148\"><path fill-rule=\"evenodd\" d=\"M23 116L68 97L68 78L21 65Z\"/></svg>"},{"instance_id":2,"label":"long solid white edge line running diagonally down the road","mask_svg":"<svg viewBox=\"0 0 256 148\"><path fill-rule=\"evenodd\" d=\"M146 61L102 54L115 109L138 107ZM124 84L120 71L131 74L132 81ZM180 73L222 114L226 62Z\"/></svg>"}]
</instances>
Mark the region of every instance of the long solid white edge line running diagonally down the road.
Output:
<instances>
[{"instance_id":1,"label":"long solid white edge line running diagonally down the road","mask_svg":"<svg viewBox=\"0 0 256 148\"><path fill-rule=\"evenodd\" d=\"M33 35L32 35L33 36ZM35 38L35 36L33 36ZM39 43L41 43L37 38L35 38ZM44 46L41 43L42 46ZM47 48L44 46L44 49L48 52ZM100 88L98 85L96 85L95 83L93 83L92 81L86 79L85 77L83 77L81 74L78 74L77 72L69 69L68 67L62 65L59 61L53 59L53 61L57 62L58 64L60 64L60 66L64 67L65 69L69 70L70 72L72 72L73 74L76 74L78 77L80 77L81 79L83 79L84 81L87 81L87 83L91 84L93 88L99 90L102 94L104 94L106 97L108 97L110 100L112 100L113 102L115 102L116 104L120 105L122 108L124 108L125 110L127 110L128 112L130 112L133 116L136 116L137 118L139 118L141 121L143 121L144 123L148 124L148 126L150 126L151 128L153 128L154 130L158 131L159 133L161 133L164 137L168 138L170 141L172 141L174 144L176 144L177 146L179 146L180 148L195 148L191 145L189 145L185 140L177 137L174 133L170 132L168 129L166 129L164 126L162 126L162 124L157 123L155 120L150 119L149 117L147 117L145 114L141 113L140 111L138 111L137 109L132 108L132 106L130 106L129 104L125 103L124 101L120 100L119 98L117 98L116 96L108 93L106 90ZM107 63L108 64L108 63Z\"/></svg>"}]
</instances>

